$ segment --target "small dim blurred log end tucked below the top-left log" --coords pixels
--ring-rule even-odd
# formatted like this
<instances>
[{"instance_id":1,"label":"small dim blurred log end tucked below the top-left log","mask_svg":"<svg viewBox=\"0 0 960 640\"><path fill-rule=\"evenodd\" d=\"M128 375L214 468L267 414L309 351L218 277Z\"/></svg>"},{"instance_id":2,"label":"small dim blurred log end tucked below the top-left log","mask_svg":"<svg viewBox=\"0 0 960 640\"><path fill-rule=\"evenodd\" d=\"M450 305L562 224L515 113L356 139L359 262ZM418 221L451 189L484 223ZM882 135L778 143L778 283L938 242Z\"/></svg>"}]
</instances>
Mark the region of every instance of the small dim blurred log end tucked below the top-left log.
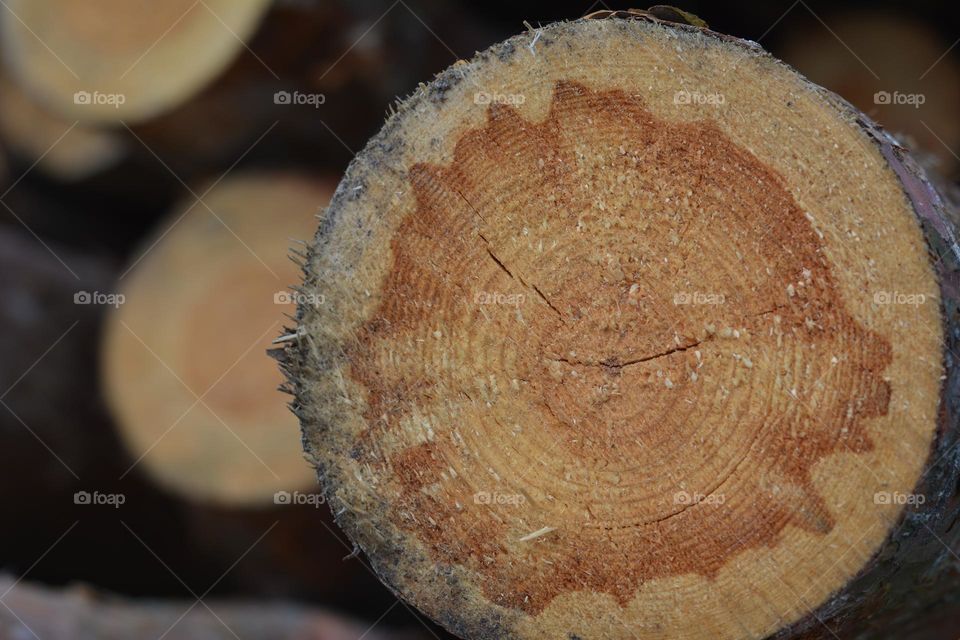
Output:
<instances>
[{"instance_id":1,"label":"small dim blurred log end tucked below the top-left log","mask_svg":"<svg viewBox=\"0 0 960 640\"><path fill-rule=\"evenodd\" d=\"M116 131L68 122L36 104L0 75L0 139L26 166L66 182L115 166L128 150Z\"/></svg>"}]
</instances>

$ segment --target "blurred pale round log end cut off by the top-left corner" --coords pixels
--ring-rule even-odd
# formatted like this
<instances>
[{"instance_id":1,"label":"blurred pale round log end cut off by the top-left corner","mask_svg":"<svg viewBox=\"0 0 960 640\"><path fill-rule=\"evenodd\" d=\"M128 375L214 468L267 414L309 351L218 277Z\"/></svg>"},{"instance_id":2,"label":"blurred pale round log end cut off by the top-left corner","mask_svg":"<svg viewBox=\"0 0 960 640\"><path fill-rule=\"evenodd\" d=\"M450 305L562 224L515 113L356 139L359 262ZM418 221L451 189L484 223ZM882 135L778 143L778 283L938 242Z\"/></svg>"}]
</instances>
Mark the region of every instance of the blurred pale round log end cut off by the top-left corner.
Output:
<instances>
[{"instance_id":1,"label":"blurred pale round log end cut off by the top-left corner","mask_svg":"<svg viewBox=\"0 0 960 640\"><path fill-rule=\"evenodd\" d=\"M148 120L200 91L243 50L269 0L10 0L0 16L17 81L71 120Z\"/></svg>"}]
</instances>

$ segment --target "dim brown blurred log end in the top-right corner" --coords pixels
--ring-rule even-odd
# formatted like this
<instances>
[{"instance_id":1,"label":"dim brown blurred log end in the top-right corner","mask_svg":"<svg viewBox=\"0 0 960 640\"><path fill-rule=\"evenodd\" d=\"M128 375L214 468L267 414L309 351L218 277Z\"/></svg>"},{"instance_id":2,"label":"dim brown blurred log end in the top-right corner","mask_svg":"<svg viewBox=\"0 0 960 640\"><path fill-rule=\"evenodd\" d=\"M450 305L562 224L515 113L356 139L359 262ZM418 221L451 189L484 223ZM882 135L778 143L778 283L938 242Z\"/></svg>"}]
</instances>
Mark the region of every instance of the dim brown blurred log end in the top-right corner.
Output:
<instances>
[{"instance_id":1,"label":"dim brown blurred log end in the top-right corner","mask_svg":"<svg viewBox=\"0 0 960 640\"><path fill-rule=\"evenodd\" d=\"M917 15L935 17L935 13ZM960 169L960 61L935 23L884 9L810 20L779 48L785 62L843 96L912 148Z\"/></svg>"}]
</instances>

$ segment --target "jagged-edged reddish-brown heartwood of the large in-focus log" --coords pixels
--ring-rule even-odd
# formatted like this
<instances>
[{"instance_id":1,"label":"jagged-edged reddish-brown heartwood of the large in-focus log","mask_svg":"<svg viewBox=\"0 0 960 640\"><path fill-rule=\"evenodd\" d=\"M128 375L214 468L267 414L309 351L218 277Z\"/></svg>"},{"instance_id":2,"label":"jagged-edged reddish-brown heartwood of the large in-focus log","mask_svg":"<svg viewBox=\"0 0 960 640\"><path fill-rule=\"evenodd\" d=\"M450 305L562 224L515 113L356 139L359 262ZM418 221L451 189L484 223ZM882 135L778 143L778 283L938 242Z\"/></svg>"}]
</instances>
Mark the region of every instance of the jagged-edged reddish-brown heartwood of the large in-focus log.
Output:
<instances>
[{"instance_id":1,"label":"jagged-edged reddish-brown heartwood of the large in-focus log","mask_svg":"<svg viewBox=\"0 0 960 640\"><path fill-rule=\"evenodd\" d=\"M833 528L811 470L871 450L892 351L846 310L775 171L709 122L559 83L543 122L492 106L449 166L410 182L416 210L347 353L369 405L352 453L393 474L395 524L438 563L536 614L577 590L625 605L789 525ZM490 375L492 403L476 391ZM458 417L385 450L414 414ZM485 490L524 504L478 504ZM518 542L518 518L555 530Z\"/></svg>"}]
</instances>

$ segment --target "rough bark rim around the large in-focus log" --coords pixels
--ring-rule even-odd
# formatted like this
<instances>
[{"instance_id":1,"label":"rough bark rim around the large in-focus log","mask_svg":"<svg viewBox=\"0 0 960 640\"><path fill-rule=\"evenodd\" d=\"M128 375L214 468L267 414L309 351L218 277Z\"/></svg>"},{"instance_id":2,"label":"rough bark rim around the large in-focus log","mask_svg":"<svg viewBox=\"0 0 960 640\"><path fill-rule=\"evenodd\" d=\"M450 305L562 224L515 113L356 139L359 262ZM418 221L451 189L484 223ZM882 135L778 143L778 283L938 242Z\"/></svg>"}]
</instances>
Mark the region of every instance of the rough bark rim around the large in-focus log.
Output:
<instances>
[{"instance_id":1,"label":"rough bark rim around the large in-focus log","mask_svg":"<svg viewBox=\"0 0 960 640\"><path fill-rule=\"evenodd\" d=\"M819 94L837 109L840 115L846 116L854 124L859 125L868 139L877 145L881 155L902 183L904 194L923 230L931 261L935 263L941 289L941 317L946 341L944 345L945 376L940 394L935 441L924 467L924 476L914 490L915 493L924 494L927 501L922 506L908 507L903 510L897 524L891 528L880 549L844 587L820 604L816 610L810 611L800 620L777 630L768 637L771 640L818 638L842 631L854 634L848 637L856 637L859 640L874 637L887 638L891 625L900 625L903 629L907 629L911 624L922 624L922 621L918 621L922 613L938 605L949 604L960 607L960 590L952 596L943 591L943 580L950 572L952 555L945 544L960 538L960 529L949 536L953 525L960 518L960 486L958 486L960 451L955 447L960 442L960 434L958 434L960 425L957 419L960 413L960 373L957 371L953 355L960 347L960 322L958 322L960 321L960 308L958 308L960 245L946 215L948 205L920 165L913 160L904 147L884 132L880 125L836 94L806 79L756 42L719 33L706 27L664 20L650 13L637 13L624 18L617 12L599 18L587 17L552 23L540 30L539 42L544 46L549 45L548 31L551 28L567 28L586 20L596 19L623 24L643 20L678 31L699 33L741 47L748 53L764 57L776 65L785 67L801 84ZM467 65L482 63L491 56L507 60L517 49L525 46L527 36L528 34L519 34L494 44L485 51L477 53ZM429 84L421 84L407 98L398 101L380 132L371 138L363 151L350 163L323 215L314 241L309 246L304 282L297 288L298 291L309 290L315 285L316 275L310 271L310 264L315 255L324 252L327 248L331 231L337 225L339 215L346 204L358 199L366 190L366 176L381 172L403 175L403 168L394 163L403 145L403 139L397 135L402 117L423 102L442 104L446 100L446 93L459 84L463 76L464 66L455 65L437 74ZM349 263L352 258L353 256L343 256L345 263ZM303 306L298 307L296 315L298 327L302 323L304 312ZM335 505L341 503L333 491L334 485L328 482L333 475L330 473L331 470L324 468L321 461L310 454L309 433L323 431L328 428L328 425L319 424L314 416L304 411L301 401L307 394L304 385L300 382L299 374L302 371L321 370L328 365L328 361L321 357L321 354L311 352L310 345L301 344L306 342L306 336L299 329L285 329L284 333L286 334L284 338L295 336L296 339L288 341L288 347L292 345L291 348L285 347L273 352L287 378L287 383L281 387L281 390L294 396L290 407L301 421L302 441L308 459L317 468L323 494L334 512L334 520L352 540L357 542L357 546L367 554L368 558L375 558L371 566L387 588L398 597L406 599L394 585L405 583L402 567L411 561L410 550L404 547L402 540L381 541L375 556L371 555L367 548L369 545L364 544L366 536L357 527L359 518L351 514L346 506L339 511L335 509ZM426 558L416 560L429 562ZM459 588L457 583L456 577L451 573L446 585L450 602L457 599L453 593ZM898 602L901 601L909 601L909 608L897 608ZM444 611L446 615L436 617L427 615L461 637L514 637L510 620L491 619L493 616L477 615L476 611L454 612L450 606ZM872 621L870 628L864 628L867 620Z\"/></svg>"}]
</instances>

